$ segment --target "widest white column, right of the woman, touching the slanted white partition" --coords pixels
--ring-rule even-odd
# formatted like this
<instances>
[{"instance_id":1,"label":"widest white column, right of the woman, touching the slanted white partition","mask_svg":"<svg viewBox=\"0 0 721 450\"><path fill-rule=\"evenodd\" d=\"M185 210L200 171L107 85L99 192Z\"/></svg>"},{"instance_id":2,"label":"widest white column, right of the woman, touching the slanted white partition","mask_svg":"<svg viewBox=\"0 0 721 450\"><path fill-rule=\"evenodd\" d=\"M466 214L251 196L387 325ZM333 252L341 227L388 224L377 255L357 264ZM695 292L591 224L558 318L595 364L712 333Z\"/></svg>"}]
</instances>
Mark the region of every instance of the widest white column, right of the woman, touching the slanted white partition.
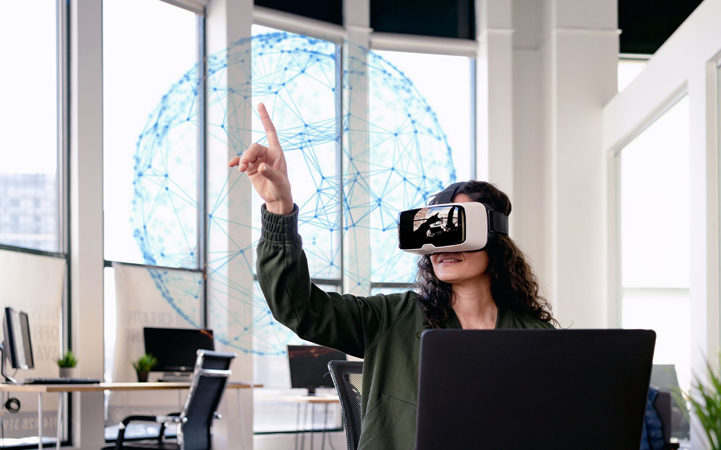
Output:
<instances>
[{"instance_id":1,"label":"widest white column, right of the woman, touching the slanted white partition","mask_svg":"<svg viewBox=\"0 0 721 450\"><path fill-rule=\"evenodd\" d=\"M603 328L609 320L601 113L616 94L616 1L547 0L544 8L547 292L562 325Z\"/></svg>"}]
</instances>

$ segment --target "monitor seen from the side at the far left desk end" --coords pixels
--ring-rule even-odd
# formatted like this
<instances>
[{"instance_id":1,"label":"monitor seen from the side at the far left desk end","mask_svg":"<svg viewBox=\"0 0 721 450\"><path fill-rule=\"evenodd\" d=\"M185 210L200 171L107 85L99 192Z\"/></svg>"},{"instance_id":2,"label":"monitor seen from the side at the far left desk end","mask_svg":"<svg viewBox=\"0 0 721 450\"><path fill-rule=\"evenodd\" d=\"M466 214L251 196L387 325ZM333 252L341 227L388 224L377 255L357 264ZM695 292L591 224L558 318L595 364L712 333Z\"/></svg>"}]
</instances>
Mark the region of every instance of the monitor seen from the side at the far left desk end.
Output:
<instances>
[{"instance_id":1,"label":"monitor seen from the side at the far left desk end","mask_svg":"<svg viewBox=\"0 0 721 450\"><path fill-rule=\"evenodd\" d=\"M4 372L6 356L13 369L35 368L35 359L32 358L32 343L30 342L30 325L27 321L27 312L6 307L2 326L5 340L2 346L3 356L0 372L2 372L7 381L15 382L12 377L8 377Z\"/></svg>"}]
</instances>

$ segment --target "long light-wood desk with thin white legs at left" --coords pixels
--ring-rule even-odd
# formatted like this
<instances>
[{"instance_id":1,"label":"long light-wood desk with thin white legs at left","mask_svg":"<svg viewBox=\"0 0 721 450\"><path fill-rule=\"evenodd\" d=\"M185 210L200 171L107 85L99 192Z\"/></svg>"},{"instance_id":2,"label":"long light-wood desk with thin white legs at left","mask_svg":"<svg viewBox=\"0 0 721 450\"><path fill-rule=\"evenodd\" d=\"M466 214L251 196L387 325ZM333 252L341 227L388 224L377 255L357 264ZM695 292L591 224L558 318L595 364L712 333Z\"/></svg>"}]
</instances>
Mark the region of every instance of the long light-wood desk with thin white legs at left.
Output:
<instances>
[{"instance_id":1,"label":"long light-wood desk with thin white legs at left","mask_svg":"<svg viewBox=\"0 0 721 450\"><path fill-rule=\"evenodd\" d=\"M63 434L63 392L141 391L188 389L187 383L146 382L146 383L94 383L94 384L0 384L0 392L37 392L37 448L43 448L43 393L58 393L58 430L56 449L60 450ZM229 382L226 389L252 389L262 384ZM242 423L242 420L241 420ZM243 433L245 434L245 433Z\"/></svg>"}]
</instances>

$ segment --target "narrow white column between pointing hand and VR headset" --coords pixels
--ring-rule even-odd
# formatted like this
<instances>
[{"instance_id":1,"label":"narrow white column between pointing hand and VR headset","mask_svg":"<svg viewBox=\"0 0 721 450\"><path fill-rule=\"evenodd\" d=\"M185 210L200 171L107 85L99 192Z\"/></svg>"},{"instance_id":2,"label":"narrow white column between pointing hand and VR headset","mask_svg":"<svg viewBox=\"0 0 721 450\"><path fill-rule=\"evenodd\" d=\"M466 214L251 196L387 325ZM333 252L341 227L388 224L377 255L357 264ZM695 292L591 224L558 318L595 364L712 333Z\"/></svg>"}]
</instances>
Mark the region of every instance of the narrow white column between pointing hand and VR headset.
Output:
<instances>
[{"instance_id":1,"label":"narrow white column between pointing hand and VR headset","mask_svg":"<svg viewBox=\"0 0 721 450\"><path fill-rule=\"evenodd\" d=\"M368 1L345 0L343 21L348 40L344 45L343 68L348 71L363 71L363 76L351 76L352 88L344 86L343 112L350 112L348 132L343 133L342 180L343 195L348 200L343 204L343 292L367 295L371 283L371 247L368 191L361 174L370 169L368 161L368 48L371 35L371 10ZM345 81L345 79L344 79ZM345 124L344 124L345 125ZM353 161L350 161L353 158ZM356 184L360 181L360 184ZM348 205L353 214L348 212ZM348 231L345 228L348 227ZM348 274L353 274L349 276Z\"/></svg>"}]
</instances>

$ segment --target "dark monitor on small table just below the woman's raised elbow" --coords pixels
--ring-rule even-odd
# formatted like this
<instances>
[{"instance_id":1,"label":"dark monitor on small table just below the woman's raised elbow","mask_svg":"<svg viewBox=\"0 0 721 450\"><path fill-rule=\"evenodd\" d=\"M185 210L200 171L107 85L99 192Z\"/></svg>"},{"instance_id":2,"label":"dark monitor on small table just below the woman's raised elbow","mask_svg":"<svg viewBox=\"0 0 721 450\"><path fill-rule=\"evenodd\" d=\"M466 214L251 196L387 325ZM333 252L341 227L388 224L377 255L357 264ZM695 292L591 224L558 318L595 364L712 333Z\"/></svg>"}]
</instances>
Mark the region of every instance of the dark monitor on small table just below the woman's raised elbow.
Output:
<instances>
[{"instance_id":1,"label":"dark monitor on small table just below the woman's raised elbow","mask_svg":"<svg viewBox=\"0 0 721 450\"><path fill-rule=\"evenodd\" d=\"M291 387L307 389L314 395L318 387L333 387L328 362L345 360L345 353L323 346L288 346Z\"/></svg>"}]
</instances>

